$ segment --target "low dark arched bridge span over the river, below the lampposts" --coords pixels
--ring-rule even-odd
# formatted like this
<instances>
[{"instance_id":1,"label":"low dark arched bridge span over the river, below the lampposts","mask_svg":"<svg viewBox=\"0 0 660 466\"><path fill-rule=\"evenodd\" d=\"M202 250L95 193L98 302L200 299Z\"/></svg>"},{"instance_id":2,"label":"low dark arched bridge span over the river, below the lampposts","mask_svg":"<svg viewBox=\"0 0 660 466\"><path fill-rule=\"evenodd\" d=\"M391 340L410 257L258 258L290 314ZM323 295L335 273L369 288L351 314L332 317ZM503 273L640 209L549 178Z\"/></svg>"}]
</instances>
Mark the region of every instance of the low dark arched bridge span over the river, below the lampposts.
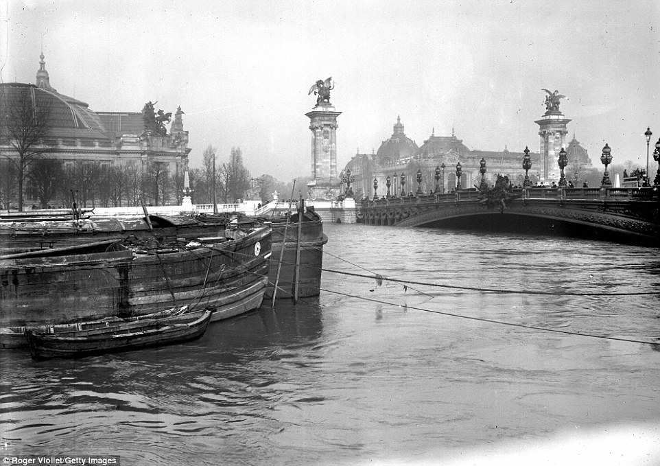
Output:
<instances>
[{"instance_id":1,"label":"low dark arched bridge span over the river, below the lampposts","mask_svg":"<svg viewBox=\"0 0 660 466\"><path fill-rule=\"evenodd\" d=\"M589 235L660 246L658 187L513 189L488 205L476 189L449 194L363 200L357 221L373 225L524 231L536 225L560 235Z\"/></svg>"}]
</instances>

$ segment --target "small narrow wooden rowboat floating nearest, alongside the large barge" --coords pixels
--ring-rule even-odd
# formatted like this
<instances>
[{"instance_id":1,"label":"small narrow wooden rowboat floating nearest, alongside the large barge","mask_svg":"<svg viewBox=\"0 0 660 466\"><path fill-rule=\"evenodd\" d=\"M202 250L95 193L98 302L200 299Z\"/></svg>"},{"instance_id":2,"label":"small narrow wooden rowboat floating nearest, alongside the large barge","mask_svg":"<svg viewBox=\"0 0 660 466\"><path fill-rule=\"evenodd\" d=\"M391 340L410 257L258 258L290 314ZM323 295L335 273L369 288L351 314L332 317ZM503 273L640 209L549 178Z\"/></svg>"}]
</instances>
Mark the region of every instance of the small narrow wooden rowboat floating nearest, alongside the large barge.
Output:
<instances>
[{"instance_id":1,"label":"small narrow wooden rowboat floating nearest, alongside the large barge","mask_svg":"<svg viewBox=\"0 0 660 466\"><path fill-rule=\"evenodd\" d=\"M75 358L195 340L207 330L211 314L213 311L207 309L165 318L109 322L106 327L56 334L27 330L25 336L34 359Z\"/></svg>"}]
</instances>

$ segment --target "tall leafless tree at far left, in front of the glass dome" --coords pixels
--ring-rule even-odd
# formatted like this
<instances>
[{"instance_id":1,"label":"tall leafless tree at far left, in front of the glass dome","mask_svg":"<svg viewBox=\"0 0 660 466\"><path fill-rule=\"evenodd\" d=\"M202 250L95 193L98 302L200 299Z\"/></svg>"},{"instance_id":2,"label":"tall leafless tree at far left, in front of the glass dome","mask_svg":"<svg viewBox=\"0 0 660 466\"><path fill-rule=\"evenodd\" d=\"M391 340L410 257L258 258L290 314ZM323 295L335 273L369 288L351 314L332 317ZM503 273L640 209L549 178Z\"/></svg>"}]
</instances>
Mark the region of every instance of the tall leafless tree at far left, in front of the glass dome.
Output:
<instances>
[{"instance_id":1,"label":"tall leafless tree at far left, in front of the glass dome","mask_svg":"<svg viewBox=\"0 0 660 466\"><path fill-rule=\"evenodd\" d=\"M20 86L14 91L0 97L3 119L1 137L14 152L2 155L16 167L18 207L19 211L23 211L23 184L27 178L27 168L50 150L46 141L52 128L52 107L49 99L32 99L34 86Z\"/></svg>"}]
</instances>

